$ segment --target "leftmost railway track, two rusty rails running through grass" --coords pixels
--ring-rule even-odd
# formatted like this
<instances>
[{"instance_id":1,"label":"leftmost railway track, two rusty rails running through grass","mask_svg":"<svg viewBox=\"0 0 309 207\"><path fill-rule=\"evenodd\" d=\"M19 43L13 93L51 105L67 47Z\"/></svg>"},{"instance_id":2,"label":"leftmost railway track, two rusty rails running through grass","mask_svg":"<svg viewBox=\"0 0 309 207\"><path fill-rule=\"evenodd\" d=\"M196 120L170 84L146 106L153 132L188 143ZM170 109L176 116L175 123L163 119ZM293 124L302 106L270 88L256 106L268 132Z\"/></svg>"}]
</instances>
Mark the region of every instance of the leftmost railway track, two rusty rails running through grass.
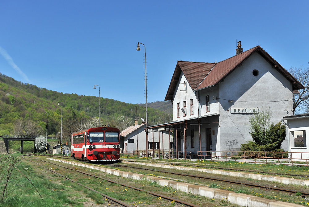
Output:
<instances>
[{"instance_id":1,"label":"leftmost railway track, two rusty rails running through grass","mask_svg":"<svg viewBox=\"0 0 309 207\"><path fill-rule=\"evenodd\" d=\"M29 161L31 161L31 160L29 160ZM112 181L112 180L109 180L109 179L106 179L106 178L102 178L102 177L100 177L100 176L96 176L96 175L92 175L92 174L89 174L89 173L86 173L86 172L79 171L79 170L77 170L77 169L68 168L68 167L65 167L65 166L62 166L62 165L54 164L54 163L52 163L52 162L48 162L48 161L44 161L44 160L40 160L40 161L43 161L43 162L46 162L46 163L49 163L49 164L53 164L53 165L56 165L56 166L59 166L59 167L62 167L62 168L70 169L70 170L72 170L72 171L76 171L76 172L82 173L82 174L84 174L84 175L88 175L88 176L92 176L92 177L95 177L95 178L99 178L99 179L105 180L105 181L107 181L107 182L110 182L110 183L113 183L113 184L118 184L118 185L121 185L121 186L124 186L124 187L128 187L128 188L131 188L131 189L140 191L140 192L145 192L145 193L150 194L150 195L153 195L153 196L155 196L155 197L164 198L164 199L166 199L166 200L168 200L168 201L176 202L176 203L179 203L179 204L181 204L181 205L186 205L186 206L190 206L190 207L200 207L200 206L198 206L198 205L194 205L194 204L192 204L192 203L188 203L188 202L186 202L186 201L182 201L182 200L176 199L175 197L168 197L168 196L165 196L165 195L162 195L162 194L158 194L158 193L155 193L155 192L146 191L146 190L143 190L143 189L141 189L141 188L136 188L136 187L131 186L131 185L126 185L126 184L123 184L123 183L119 183L119 182L116 182L116 181ZM33 161L31 161L31 162L33 162ZM36 163L36 162L33 162L33 163L35 163L35 164L41 166L42 168L44 168L44 169L46 169L46 170L49 170L49 171L51 171L51 172L54 172L54 173L56 173L57 175L66 178L67 180L70 180L70 181L72 181L72 182L74 182L74 183L76 183L76 184L78 184L78 185L81 185L81 186L83 186L84 188L87 188L87 189L92 190L92 191L94 191L94 192L96 192L96 193L99 193L99 194L101 194L102 196L106 197L107 199L109 199L109 200L111 200L111 201L113 201L113 202L115 202L115 203L117 203L117 204L120 204L120 205L126 206L126 207L132 207L131 205L125 204L125 203L123 203L122 201L116 200L116 199L114 199L114 198L112 198L112 197L109 197L109 196L107 196L107 195L105 195L105 194L103 194L103 193L100 193L100 192L98 192L98 191L96 191L96 190L94 190L94 189L92 189L92 188L90 188L90 187L87 187L87 186L85 186L85 185L83 185L83 184L80 184L80 183L78 183L78 182L76 182L76 181L74 181L74 180L72 180L72 179L69 179L68 177L65 177L65 176L63 176L63 175L61 175L61 174L59 174L59 173L57 173L57 172L55 172L55 171L53 171L53 170L51 170L51 169L45 168L44 166L42 166L42 165L40 165L40 164L38 164L38 163Z\"/></svg>"}]
</instances>

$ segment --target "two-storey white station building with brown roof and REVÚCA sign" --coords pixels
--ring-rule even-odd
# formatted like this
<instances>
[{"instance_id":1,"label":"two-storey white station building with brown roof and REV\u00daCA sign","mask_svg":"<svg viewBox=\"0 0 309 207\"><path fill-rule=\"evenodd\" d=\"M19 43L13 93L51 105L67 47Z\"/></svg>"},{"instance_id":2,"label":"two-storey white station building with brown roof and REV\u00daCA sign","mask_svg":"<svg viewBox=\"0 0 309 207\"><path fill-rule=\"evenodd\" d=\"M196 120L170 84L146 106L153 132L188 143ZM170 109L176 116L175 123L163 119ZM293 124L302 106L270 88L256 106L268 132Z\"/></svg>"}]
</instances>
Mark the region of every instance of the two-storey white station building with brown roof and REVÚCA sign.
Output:
<instances>
[{"instance_id":1,"label":"two-storey white station building with brown roof and REV\u00daCA sign","mask_svg":"<svg viewBox=\"0 0 309 207\"><path fill-rule=\"evenodd\" d=\"M253 141L250 116L271 110L278 123L293 115L293 93L303 88L263 48L243 52L238 42L236 55L220 62L178 61L165 96L173 122L146 131L173 130L174 151L229 155ZM281 148L288 146L286 139Z\"/></svg>"}]
</instances>

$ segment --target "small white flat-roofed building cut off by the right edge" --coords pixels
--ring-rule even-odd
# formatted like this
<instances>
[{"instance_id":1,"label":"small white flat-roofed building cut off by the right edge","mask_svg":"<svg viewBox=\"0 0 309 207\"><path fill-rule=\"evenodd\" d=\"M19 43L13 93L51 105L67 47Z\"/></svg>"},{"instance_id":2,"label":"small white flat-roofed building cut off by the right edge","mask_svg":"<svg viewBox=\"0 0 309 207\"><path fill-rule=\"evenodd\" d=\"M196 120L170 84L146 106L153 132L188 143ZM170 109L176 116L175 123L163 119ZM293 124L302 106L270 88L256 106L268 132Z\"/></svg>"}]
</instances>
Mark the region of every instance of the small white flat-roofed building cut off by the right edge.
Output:
<instances>
[{"instance_id":1,"label":"small white flat-roofed building cut off by the right edge","mask_svg":"<svg viewBox=\"0 0 309 207\"><path fill-rule=\"evenodd\" d=\"M287 125L286 134L289 152L293 152L292 158L309 159L307 150L307 143L309 143L309 113L285 116L282 121Z\"/></svg>"}]
</instances>

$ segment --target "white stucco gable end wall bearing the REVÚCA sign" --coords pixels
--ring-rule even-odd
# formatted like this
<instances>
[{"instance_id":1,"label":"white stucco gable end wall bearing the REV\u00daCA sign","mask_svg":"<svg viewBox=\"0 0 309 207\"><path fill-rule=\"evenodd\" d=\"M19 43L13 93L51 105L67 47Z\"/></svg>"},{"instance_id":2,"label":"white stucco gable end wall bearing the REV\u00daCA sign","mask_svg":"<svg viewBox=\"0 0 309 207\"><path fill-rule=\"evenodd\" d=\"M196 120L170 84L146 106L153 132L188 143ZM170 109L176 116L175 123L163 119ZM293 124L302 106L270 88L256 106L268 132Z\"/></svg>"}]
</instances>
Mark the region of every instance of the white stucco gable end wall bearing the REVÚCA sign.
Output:
<instances>
[{"instance_id":1,"label":"white stucco gable end wall bearing the REV\u00daCA sign","mask_svg":"<svg viewBox=\"0 0 309 207\"><path fill-rule=\"evenodd\" d=\"M253 70L258 70L259 74L254 76ZM279 122L288 113L293 114L292 85L258 53L254 53L220 83L219 98L233 100L219 100L221 151L237 151L242 143L252 141L248 125L249 116L252 114L231 114L231 109L270 109L273 112L274 123ZM228 144L229 141L234 141L237 145L231 146ZM281 148L288 150L287 140L282 143Z\"/></svg>"}]
</instances>

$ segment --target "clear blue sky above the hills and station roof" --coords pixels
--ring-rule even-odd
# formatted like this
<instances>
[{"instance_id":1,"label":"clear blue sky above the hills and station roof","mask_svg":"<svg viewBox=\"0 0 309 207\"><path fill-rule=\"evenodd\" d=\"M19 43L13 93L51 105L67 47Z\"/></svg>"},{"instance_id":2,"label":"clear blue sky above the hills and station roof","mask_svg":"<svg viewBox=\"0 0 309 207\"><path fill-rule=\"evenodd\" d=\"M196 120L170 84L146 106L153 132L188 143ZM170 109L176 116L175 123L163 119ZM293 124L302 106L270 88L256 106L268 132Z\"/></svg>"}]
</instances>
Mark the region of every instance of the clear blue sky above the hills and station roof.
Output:
<instances>
[{"instance_id":1,"label":"clear blue sky above the hills and station roof","mask_svg":"<svg viewBox=\"0 0 309 207\"><path fill-rule=\"evenodd\" d=\"M1 1L0 72L63 93L164 101L177 60L214 62L260 45L307 67L308 1Z\"/></svg>"}]
</instances>

